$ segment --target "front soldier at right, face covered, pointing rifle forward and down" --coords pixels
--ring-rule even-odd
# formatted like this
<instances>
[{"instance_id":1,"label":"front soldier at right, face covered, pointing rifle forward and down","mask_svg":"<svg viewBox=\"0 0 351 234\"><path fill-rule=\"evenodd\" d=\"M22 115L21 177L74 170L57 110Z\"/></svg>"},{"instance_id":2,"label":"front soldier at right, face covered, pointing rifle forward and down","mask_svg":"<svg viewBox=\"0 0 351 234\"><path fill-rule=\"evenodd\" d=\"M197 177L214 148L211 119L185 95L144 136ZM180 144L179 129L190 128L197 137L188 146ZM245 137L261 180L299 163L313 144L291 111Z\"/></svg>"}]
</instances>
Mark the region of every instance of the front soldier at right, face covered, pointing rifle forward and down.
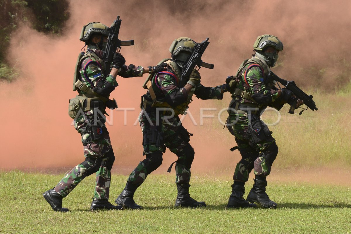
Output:
<instances>
[{"instance_id":1,"label":"front soldier at right, face covered, pointing rifle forward and down","mask_svg":"<svg viewBox=\"0 0 351 234\"><path fill-rule=\"evenodd\" d=\"M283 50L282 42L276 36L262 35L253 48L255 54L241 63L236 76L228 82L233 99L228 109L227 128L235 136L238 146L234 148L239 149L242 157L234 172L228 208L256 207L254 202L265 208L277 207L266 193L266 176L270 174L278 146L272 132L260 120L260 114L267 106L279 111L284 103L296 98L290 90L276 88L276 82L269 77L270 67L275 66L278 53ZM296 107L302 104L298 99ZM245 200L244 185L252 169L254 185Z\"/></svg>"}]
</instances>

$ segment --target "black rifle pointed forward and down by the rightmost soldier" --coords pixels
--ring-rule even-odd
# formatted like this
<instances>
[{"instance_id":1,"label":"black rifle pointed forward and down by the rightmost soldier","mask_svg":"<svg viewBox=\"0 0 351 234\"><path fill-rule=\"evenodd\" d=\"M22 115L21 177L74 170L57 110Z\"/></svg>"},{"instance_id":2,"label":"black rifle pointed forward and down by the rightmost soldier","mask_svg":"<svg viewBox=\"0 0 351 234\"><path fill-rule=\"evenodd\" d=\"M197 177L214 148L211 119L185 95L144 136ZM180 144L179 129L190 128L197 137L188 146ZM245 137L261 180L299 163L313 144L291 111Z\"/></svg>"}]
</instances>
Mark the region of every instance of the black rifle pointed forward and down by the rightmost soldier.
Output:
<instances>
[{"instance_id":1,"label":"black rifle pointed forward and down by the rightmost soldier","mask_svg":"<svg viewBox=\"0 0 351 234\"><path fill-rule=\"evenodd\" d=\"M278 81L279 83L281 83L282 85L284 85L287 89L289 89L291 92L294 93L294 95L296 96L296 98L291 98L291 100L288 101L288 104L290 105L290 109L289 109L289 114L294 114L295 111L295 107L296 107L296 100L300 99L302 101L304 101L304 104L307 106L307 108L310 107L310 109L312 111L314 110L318 110L318 108L316 107L316 103L313 101L313 96L312 95L307 95L304 91L302 91L301 89L299 89L299 87L296 86L294 81L287 81L284 80L282 78L280 78L279 76L277 76L276 74L274 74L272 71L270 72L269 76L275 80ZM299 115L302 114L302 112L305 109L303 109Z\"/></svg>"}]
</instances>

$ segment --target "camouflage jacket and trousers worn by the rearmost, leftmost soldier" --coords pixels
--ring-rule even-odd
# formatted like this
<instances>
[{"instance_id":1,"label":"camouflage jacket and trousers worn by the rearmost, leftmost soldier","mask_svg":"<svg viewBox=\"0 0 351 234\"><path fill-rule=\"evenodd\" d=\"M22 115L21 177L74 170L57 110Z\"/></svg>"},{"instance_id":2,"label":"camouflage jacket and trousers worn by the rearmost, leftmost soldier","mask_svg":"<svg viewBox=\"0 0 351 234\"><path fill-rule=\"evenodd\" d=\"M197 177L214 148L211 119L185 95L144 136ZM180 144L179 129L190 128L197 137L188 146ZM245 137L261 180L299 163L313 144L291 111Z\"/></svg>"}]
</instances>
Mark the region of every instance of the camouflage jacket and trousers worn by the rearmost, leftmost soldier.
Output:
<instances>
[{"instance_id":1,"label":"camouflage jacket and trousers worn by the rearmost, leftmost soldier","mask_svg":"<svg viewBox=\"0 0 351 234\"><path fill-rule=\"evenodd\" d=\"M101 58L102 52L95 46L88 46L86 54L94 53ZM105 68L101 62L97 61L96 56L89 56L84 59L80 65L79 79L86 86L93 88L99 82L107 80L111 85L116 87L117 81L111 75L104 76ZM122 77L135 77L143 75L143 67L134 65L123 65L119 68L118 75ZM79 94L84 94L81 90ZM107 199L110 189L111 168L114 162L114 153L111 146L110 136L105 126L105 105L98 103L96 108L85 111L75 118L74 127L81 134L85 161L77 165L71 172L67 173L64 178L54 188L62 197L67 196L86 176L96 172L96 185L94 200ZM94 140L92 134L92 122L98 121L101 131L101 137Z\"/></svg>"}]
</instances>

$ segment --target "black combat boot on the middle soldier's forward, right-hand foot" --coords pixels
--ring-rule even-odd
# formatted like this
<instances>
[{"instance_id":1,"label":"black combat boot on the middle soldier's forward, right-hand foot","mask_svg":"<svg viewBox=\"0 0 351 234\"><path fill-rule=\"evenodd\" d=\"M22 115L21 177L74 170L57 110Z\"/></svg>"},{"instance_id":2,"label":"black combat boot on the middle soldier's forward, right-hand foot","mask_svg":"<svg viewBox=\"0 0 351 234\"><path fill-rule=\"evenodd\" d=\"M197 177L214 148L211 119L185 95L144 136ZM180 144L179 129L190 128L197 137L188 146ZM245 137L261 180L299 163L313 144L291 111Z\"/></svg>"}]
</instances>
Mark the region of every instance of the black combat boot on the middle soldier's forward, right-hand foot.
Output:
<instances>
[{"instance_id":1,"label":"black combat boot on the middle soldier's forward, right-hand foot","mask_svg":"<svg viewBox=\"0 0 351 234\"><path fill-rule=\"evenodd\" d=\"M178 195L176 199L176 204L174 206L181 206L181 207L205 207L206 203L204 201L196 201L195 199L191 198L189 194L189 187L188 183L178 184Z\"/></svg>"}]
</instances>

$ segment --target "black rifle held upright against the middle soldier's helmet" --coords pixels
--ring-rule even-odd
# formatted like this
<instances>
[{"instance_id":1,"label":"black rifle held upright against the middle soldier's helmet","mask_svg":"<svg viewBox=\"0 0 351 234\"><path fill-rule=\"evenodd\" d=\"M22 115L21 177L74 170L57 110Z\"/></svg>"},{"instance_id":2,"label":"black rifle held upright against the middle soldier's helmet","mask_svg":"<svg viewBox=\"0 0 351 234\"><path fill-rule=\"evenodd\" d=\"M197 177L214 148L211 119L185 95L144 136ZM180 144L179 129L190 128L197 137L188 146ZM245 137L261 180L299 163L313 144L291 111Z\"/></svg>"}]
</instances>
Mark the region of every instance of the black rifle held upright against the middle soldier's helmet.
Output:
<instances>
[{"instance_id":1,"label":"black rifle held upright against the middle soldier's helmet","mask_svg":"<svg viewBox=\"0 0 351 234\"><path fill-rule=\"evenodd\" d=\"M189 76L196 65L199 67L199 69L201 68L201 66L209 68L209 69L213 69L213 67L214 67L213 64L206 63L206 62L203 62L201 60L201 56L204 54L205 49L207 48L208 44L210 44L210 42L208 42L208 38L206 38L203 42L198 43L194 47L194 52L192 53L192 55L190 55L190 57L186 61L185 65L183 67L183 71L181 73L181 80L183 82L186 79L189 79Z\"/></svg>"}]
</instances>

